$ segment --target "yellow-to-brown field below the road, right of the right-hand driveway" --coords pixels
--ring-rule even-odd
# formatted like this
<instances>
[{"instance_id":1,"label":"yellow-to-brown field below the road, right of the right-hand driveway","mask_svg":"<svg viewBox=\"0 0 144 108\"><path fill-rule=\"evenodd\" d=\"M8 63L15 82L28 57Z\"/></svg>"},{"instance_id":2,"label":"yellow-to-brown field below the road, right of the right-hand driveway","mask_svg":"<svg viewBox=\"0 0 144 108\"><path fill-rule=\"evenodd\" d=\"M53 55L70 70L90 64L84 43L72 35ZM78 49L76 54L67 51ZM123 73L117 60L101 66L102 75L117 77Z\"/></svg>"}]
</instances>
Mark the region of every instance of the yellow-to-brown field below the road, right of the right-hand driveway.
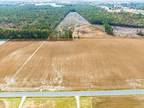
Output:
<instances>
[{"instance_id":1,"label":"yellow-to-brown field below the road, right of the right-hand driveway","mask_svg":"<svg viewBox=\"0 0 144 108\"><path fill-rule=\"evenodd\" d=\"M81 108L143 108L144 96L82 97Z\"/></svg>"}]
</instances>

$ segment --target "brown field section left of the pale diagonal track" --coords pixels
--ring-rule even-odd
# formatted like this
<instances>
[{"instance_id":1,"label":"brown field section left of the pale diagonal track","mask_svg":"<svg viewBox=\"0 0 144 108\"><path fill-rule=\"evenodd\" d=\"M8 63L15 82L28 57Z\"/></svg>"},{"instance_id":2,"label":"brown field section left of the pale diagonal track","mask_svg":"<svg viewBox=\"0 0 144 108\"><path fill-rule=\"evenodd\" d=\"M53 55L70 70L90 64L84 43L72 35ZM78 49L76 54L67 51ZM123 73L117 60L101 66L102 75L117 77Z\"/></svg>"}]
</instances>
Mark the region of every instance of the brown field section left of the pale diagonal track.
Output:
<instances>
[{"instance_id":1,"label":"brown field section left of the pale diagonal track","mask_svg":"<svg viewBox=\"0 0 144 108\"><path fill-rule=\"evenodd\" d=\"M11 77L41 42L9 41L0 47L0 80L10 83ZM7 49L7 50L5 50ZM2 68L3 67L3 68Z\"/></svg>"}]
</instances>

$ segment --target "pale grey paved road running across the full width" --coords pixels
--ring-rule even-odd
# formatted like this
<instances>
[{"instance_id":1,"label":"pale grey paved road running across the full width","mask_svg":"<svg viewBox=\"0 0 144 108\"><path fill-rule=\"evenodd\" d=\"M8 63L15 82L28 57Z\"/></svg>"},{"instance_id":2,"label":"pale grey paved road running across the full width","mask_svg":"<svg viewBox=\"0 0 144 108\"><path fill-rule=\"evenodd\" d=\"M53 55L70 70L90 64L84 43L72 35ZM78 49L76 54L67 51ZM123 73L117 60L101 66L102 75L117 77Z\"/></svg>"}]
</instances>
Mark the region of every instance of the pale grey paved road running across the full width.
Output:
<instances>
[{"instance_id":1,"label":"pale grey paved road running across the full width","mask_svg":"<svg viewBox=\"0 0 144 108\"><path fill-rule=\"evenodd\" d=\"M69 91L69 92L1 92L0 97L67 97L67 96L116 96L144 95L144 90Z\"/></svg>"}]
</instances>

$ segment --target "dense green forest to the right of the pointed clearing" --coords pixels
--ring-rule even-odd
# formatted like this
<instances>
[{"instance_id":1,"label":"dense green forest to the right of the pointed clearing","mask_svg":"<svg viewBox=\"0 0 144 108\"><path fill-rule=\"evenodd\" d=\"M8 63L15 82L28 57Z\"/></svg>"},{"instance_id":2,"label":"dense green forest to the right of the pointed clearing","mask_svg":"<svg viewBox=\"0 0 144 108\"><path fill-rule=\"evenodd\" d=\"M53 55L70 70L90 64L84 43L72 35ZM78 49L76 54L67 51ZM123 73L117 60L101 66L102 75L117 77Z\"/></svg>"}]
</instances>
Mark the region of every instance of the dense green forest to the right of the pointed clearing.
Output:
<instances>
[{"instance_id":1,"label":"dense green forest to the right of the pointed clearing","mask_svg":"<svg viewBox=\"0 0 144 108\"><path fill-rule=\"evenodd\" d=\"M132 13L109 13L94 6L76 6L76 10L93 24L105 21L111 25L144 27L144 15Z\"/></svg>"}]
</instances>

